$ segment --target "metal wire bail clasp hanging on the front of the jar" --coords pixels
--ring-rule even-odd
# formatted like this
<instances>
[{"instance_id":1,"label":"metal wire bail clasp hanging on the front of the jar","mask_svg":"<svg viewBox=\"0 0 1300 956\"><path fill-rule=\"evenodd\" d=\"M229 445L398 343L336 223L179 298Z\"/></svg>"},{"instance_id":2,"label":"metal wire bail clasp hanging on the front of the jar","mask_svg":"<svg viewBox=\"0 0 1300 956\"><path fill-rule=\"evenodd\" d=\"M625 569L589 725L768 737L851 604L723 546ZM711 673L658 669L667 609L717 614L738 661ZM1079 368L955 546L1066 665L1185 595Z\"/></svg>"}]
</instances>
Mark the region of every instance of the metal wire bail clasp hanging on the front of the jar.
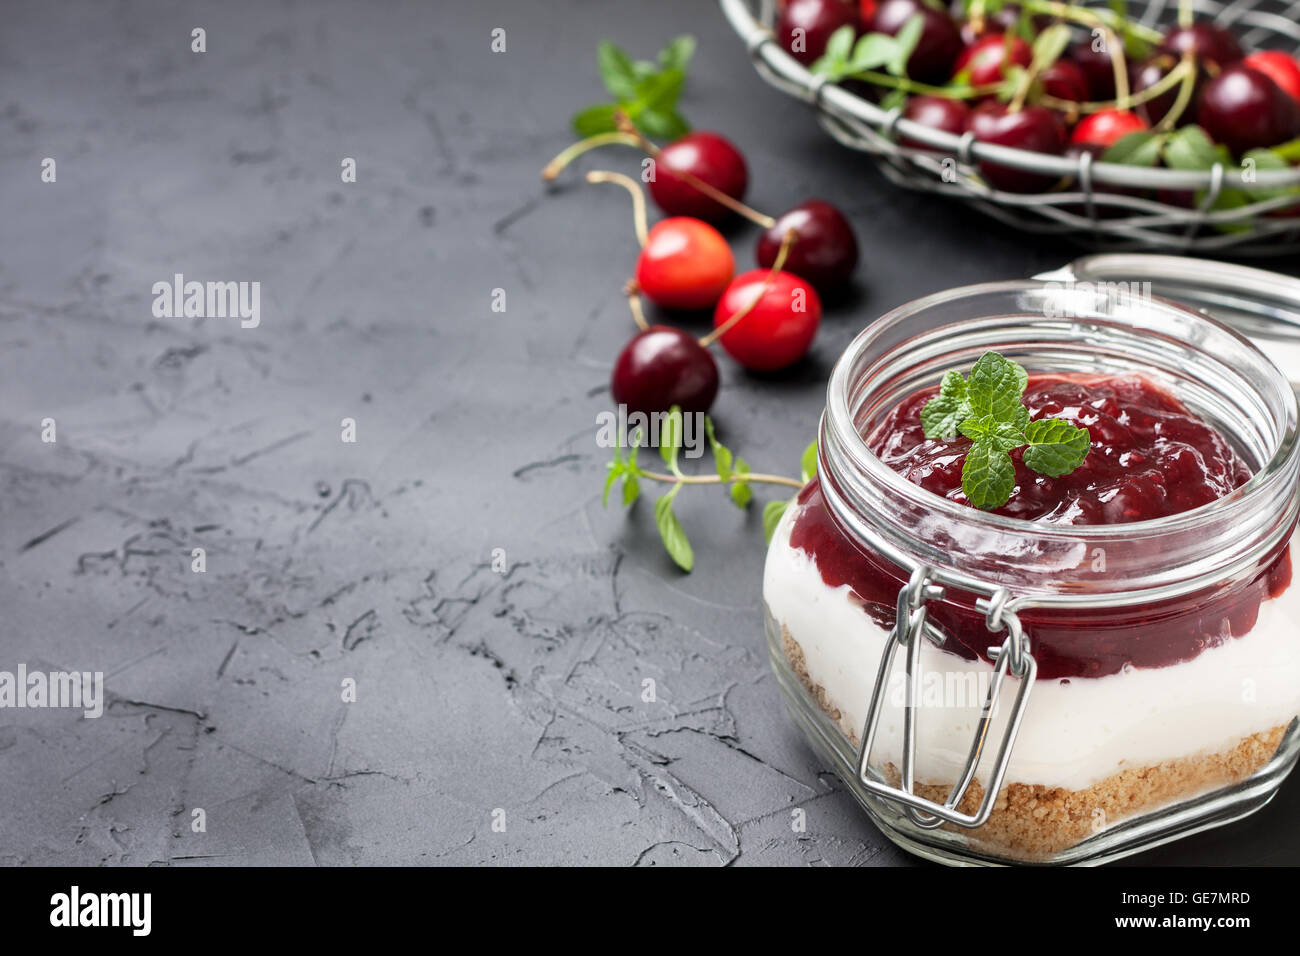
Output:
<instances>
[{"instance_id":1,"label":"metal wire bail clasp hanging on the front of the jar","mask_svg":"<svg viewBox=\"0 0 1300 956\"><path fill-rule=\"evenodd\" d=\"M1002 788L1002 779L1006 777L1006 767L1011 758L1011 747L1020 730L1020 719L1024 717L1030 691L1034 688L1034 679L1037 675L1037 665L1032 654L1030 654L1028 641L1020 627L1020 619L1009 607L1010 593L1005 588L998 588L989 597L978 600L975 607L984 613L984 623L988 630L991 632L1006 631L1006 639L1001 646L988 649L988 656L993 659L993 676L988 685L984 709L975 727L975 737L971 741L970 754L966 757L966 766L962 770L961 778L953 784L952 792L942 804L916 796L914 792L916 774L916 710L919 709L923 679L920 670L922 641L919 639L930 633L926 602L939 600L942 596L944 588L935 583L933 572L924 566L914 570L911 579L898 592L894 628L889 633L884 652L880 656L880 669L876 672L876 683L871 691L867 721L862 728L862 747L858 750L858 779L872 793L902 804L907 816L918 826L935 829L946 822L963 827L978 827L983 826L993 813L993 804L997 800L998 791ZM900 646L907 649L907 696L904 706L902 730L902 779L898 787L890 787L883 779L874 779L871 777L870 762L871 747L875 743L876 730L880 724L880 714L884 711L889 675L893 672L894 653ZM1020 687L1017 691L1006 732L1002 735L997 757L993 761L993 767L984 788L984 799L975 813L959 813L957 806L966 797L966 792L975 780L975 771L979 769L984 744L988 740L988 727L997 706L997 695L1001 691L1002 679L1008 674L1015 676L1020 682Z\"/></svg>"}]
</instances>

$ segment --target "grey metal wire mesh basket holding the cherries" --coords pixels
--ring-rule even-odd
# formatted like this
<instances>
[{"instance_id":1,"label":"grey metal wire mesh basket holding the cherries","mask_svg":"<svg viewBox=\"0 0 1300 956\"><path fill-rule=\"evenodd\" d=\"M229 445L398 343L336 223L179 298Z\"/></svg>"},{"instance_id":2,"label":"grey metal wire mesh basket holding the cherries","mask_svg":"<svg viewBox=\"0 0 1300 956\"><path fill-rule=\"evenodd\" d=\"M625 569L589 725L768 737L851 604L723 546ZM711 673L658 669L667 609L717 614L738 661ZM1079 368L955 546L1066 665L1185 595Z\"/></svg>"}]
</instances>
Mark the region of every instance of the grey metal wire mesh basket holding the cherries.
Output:
<instances>
[{"instance_id":1,"label":"grey metal wire mesh basket holding the cherries","mask_svg":"<svg viewBox=\"0 0 1300 956\"><path fill-rule=\"evenodd\" d=\"M962 199L1018 229L1109 250L1234 256L1300 250L1300 198L1275 193L1278 187L1300 187L1297 168L1254 170L1252 187L1271 189L1274 195L1216 209L1225 189L1244 183L1242 166L1179 170L1101 163L1087 152L1078 157L1030 152L976 142L971 133L958 137L924 126L902 118L901 107L883 109L810 73L775 40L772 0L720 0L720 5L759 75L811 103L836 140L871 155L898 186ZM1300 49L1300 0L1193 0L1193 7L1197 18L1231 27L1247 49ZM1176 7L1169 0L1130 0L1128 10L1148 27L1162 29L1176 20ZM931 148L900 146L900 138ZM1035 194L993 189L979 176L976 164L982 160L1037 173L1060 185ZM1179 193L1197 202L1188 208L1161 200Z\"/></svg>"}]
</instances>

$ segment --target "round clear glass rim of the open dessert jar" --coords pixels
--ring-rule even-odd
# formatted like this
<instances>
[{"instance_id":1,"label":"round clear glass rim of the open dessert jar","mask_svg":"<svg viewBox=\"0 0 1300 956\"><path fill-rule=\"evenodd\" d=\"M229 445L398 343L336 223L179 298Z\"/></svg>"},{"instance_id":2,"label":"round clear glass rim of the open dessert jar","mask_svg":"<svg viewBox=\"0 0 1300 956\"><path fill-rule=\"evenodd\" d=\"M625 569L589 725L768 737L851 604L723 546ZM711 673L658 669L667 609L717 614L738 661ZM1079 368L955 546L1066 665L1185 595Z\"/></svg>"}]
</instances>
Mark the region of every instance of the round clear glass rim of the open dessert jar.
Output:
<instances>
[{"instance_id":1,"label":"round clear glass rim of the open dessert jar","mask_svg":"<svg viewBox=\"0 0 1300 956\"><path fill-rule=\"evenodd\" d=\"M1072 525L1040 524L1031 519L1011 518L1008 515L998 515L992 511L982 511L968 505L950 501L940 494L935 494L933 492L909 481L904 475L890 468L870 450L866 438L854 423L853 410L849 407L849 394L850 389L855 384L854 376L858 375L858 363L885 333L893 330L898 324L904 323L909 317L936 306L984 294L1037 291L1049 289L1053 285L1057 284L1040 280L1010 280L957 286L922 297L919 299L913 299L911 302L907 302L880 316L867 325L866 329L858 333L857 337L854 337L854 339L845 349L844 354L836 362L827 386L827 411L823 416L823 429L829 428L835 431L838 446L849 453L855 467L862 468L874 481L884 484L890 492L907 498L916 506L926 507L940 516L963 523L967 527L979 525L992 531L1010 533L1024 533L1034 529L1044 538L1060 537L1074 540L1100 540L1108 537L1113 538L1121 535L1123 537L1140 537L1156 533L1164 535L1170 532L1190 531L1195 529L1196 525L1208 518L1221 518L1225 509L1251 507L1261 497L1268 497L1270 492L1275 493L1279 483L1291 481L1292 485L1295 484L1297 459L1300 459L1300 442L1297 442L1297 416L1300 416L1300 410L1297 410L1296 394L1287 377L1280 369L1277 368L1277 365L1271 363L1271 360L1268 359L1266 355L1264 355L1262 351L1258 350L1257 346L1254 346L1253 342L1238 333L1235 329L1231 329L1223 323L1219 323L1202 312L1197 312L1178 302L1158 297L1149 297L1144 299L1144 307L1157 311L1171 311L1184 320L1191 319L1196 323L1204 323L1219 334L1231 336L1232 338L1239 339L1251 352L1253 352L1254 356L1260 359L1258 368L1264 371L1264 375L1268 378L1268 381L1257 382L1257 388L1266 388L1284 397L1286 420L1277 423L1279 434L1275 447L1273 449L1273 454L1268 458L1268 460L1260 464L1247 483L1242 484L1222 498L1175 515L1144 519L1140 522ZM906 345L906 342L904 345ZM826 442L823 441L820 444L823 447L819 449L819 464L826 466ZM1295 494L1295 492L1296 489L1292 488L1292 494Z\"/></svg>"}]
</instances>

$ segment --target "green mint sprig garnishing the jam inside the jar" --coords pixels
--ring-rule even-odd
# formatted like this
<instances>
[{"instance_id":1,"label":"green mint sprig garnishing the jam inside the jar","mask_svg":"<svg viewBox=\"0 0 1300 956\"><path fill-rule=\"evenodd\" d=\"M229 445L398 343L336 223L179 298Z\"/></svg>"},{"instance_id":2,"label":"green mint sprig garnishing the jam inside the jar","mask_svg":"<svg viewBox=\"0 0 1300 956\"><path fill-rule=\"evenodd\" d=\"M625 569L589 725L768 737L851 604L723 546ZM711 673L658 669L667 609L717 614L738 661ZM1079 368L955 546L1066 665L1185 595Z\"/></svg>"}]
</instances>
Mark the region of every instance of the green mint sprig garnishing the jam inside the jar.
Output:
<instances>
[{"instance_id":1,"label":"green mint sprig garnishing the jam inside the jar","mask_svg":"<svg viewBox=\"0 0 1300 956\"><path fill-rule=\"evenodd\" d=\"M971 368L944 375L939 394L920 410L927 438L971 440L962 466L962 492L983 511L1002 507L1015 492L1011 451L1024 447L1024 467L1048 477L1061 477L1083 464L1092 447L1087 428L1062 419L1030 421L1024 406L1028 372L1015 362L989 351Z\"/></svg>"}]
</instances>

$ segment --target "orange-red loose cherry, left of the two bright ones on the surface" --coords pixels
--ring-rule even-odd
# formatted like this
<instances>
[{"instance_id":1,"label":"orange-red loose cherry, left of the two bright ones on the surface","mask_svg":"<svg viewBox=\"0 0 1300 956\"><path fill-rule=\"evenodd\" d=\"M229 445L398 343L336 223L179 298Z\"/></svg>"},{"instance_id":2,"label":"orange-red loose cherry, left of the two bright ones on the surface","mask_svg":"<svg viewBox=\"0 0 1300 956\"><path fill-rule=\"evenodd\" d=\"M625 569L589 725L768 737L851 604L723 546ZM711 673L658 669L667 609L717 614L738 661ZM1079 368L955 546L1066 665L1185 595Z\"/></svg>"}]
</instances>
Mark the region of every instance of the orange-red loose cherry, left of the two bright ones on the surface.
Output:
<instances>
[{"instance_id":1,"label":"orange-red loose cherry, left of the two bright ones on the surface","mask_svg":"<svg viewBox=\"0 0 1300 956\"><path fill-rule=\"evenodd\" d=\"M736 272L731 246L698 219L675 216L655 222L637 256L636 281L664 308L708 308Z\"/></svg>"}]
</instances>

